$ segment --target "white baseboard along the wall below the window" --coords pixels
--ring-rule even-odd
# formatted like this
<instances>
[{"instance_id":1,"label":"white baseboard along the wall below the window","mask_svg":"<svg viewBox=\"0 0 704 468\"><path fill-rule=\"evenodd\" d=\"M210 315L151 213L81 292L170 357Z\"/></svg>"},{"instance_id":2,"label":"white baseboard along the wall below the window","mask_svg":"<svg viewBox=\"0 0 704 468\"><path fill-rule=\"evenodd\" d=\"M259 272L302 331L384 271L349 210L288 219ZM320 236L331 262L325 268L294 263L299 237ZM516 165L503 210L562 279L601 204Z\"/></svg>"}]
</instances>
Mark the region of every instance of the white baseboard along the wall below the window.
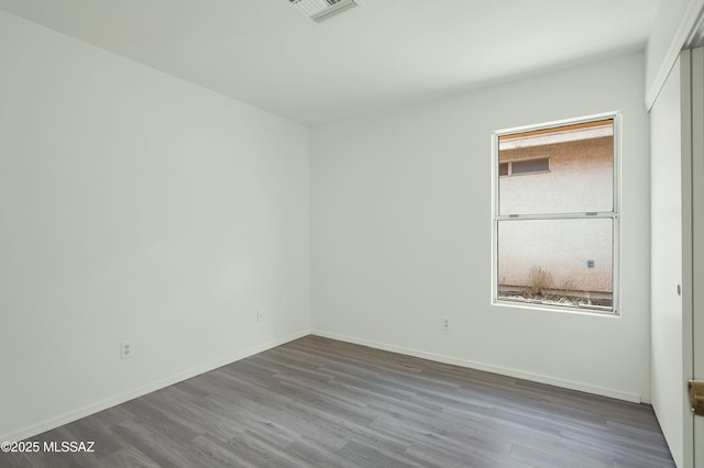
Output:
<instances>
[{"instance_id":1,"label":"white baseboard along the wall below the window","mask_svg":"<svg viewBox=\"0 0 704 468\"><path fill-rule=\"evenodd\" d=\"M460 367L468 367L476 370L485 370L492 374L499 374L502 376L515 377L518 379L530 380L539 383L547 383L549 386L562 387L570 390L578 390L586 393L598 394L602 397L615 398L618 400L629 401L631 403L640 403L642 401L639 394L629 393L622 390L608 389L604 387L597 387L586 382L576 382L573 380L561 379L558 377L544 376L544 375L534 374L534 372L526 372L522 370L493 366L491 364L476 363L473 360L460 359L452 356L446 356L446 355L436 354L436 353L427 353L419 349L394 346L386 343L378 343L378 342L358 338L353 336L339 335L337 333L329 333L322 330L314 328L310 333L312 333L316 336L338 339L341 342L354 343L362 346L369 346L375 349L383 349L392 353L398 353L407 356L419 357L422 359L435 360L437 363L451 364Z\"/></svg>"}]
</instances>

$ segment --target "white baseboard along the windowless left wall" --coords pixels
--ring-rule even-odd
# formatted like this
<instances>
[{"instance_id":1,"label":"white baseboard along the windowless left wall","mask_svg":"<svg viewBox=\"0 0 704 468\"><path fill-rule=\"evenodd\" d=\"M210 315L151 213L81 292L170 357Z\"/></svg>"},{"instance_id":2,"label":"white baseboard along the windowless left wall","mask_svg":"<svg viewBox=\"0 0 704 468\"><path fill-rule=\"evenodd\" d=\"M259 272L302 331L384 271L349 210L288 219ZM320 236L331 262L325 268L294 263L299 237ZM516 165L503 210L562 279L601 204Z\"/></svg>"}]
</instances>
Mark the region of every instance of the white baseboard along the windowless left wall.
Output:
<instances>
[{"instance_id":1,"label":"white baseboard along the windowless left wall","mask_svg":"<svg viewBox=\"0 0 704 468\"><path fill-rule=\"evenodd\" d=\"M184 380L188 380L196 376L199 376L205 372L209 372L210 370L217 369L222 366L227 366L228 364L235 363L240 359L244 359L246 357L253 356L255 354L265 352L267 349L274 348L276 346L280 346L285 343L293 342L294 339L301 338L310 334L310 330L304 330L297 333L293 333L288 336L284 336L278 339L273 339L271 342L263 343L261 345L251 347L235 355L228 356L226 358L219 359L215 363L210 363L204 366L199 366L197 368L187 370L185 372L179 372L175 376L161 379L146 386L140 387L138 389L130 390L128 392L110 397L102 401L98 401L86 406L76 409L74 411L69 411L64 414L59 414L57 416L51 417L48 420L42 421L36 424L32 424L30 426L23 427L19 431L11 432L9 434L0 435L0 441L23 441L28 437L33 437L37 434L42 434L43 432L51 431L64 424L72 423L74 421L80 420L81 417L89 416L91 414L98 413L100 411L107 410L108 408L116 406L118 404L124 403L125 401L133 400L135 398L145 395L156 390L161 390L168 386L173 386L174 383L182 382Z\"/></svg>"}]
</instances>

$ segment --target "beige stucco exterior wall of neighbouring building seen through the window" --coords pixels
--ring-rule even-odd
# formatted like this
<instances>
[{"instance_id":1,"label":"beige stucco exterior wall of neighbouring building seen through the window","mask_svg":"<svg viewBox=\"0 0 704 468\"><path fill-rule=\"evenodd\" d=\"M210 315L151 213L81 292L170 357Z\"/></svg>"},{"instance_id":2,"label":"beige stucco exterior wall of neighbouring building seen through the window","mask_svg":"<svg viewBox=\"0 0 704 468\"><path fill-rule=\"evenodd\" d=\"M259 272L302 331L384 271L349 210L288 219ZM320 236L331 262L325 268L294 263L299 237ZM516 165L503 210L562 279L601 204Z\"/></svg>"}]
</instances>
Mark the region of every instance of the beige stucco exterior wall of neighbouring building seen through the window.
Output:
<instances>
[{"instance_id":1,"label":"beige stucco exterior wall of neighbouring building seen through the window","mask_svg":"<svg viewBox=\"0 0 704 468\"><path fill-rule=\"evenodd\" d=\"M550 171L499 178L501 214L612 211L613 137L502 151L501 161L550 158ZM509 220L498 227L498 282L529 286L550 271L559 289L612 292L612 220ZM588 267L593 260L594 266Z\"/></svg>"}]
</instances>

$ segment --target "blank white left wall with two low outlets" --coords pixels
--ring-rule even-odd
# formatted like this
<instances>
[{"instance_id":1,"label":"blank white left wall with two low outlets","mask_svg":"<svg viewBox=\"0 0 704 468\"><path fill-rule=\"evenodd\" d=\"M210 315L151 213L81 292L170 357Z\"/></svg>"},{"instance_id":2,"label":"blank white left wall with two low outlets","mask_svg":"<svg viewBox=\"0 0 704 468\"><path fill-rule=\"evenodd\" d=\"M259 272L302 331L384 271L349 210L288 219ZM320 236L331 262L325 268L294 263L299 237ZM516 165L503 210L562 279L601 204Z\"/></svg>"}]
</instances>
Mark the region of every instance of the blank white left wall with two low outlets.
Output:
<instances>
[{"instance_id":1,"label":"blank white left wall with two low outlets","mask_svg":"<svg viewBox=\"0 0 704 468\"><path fill-rule=\"evenodd\" d=\"M309 332L308 129L1 12L0 64L0 439Z\"/></svg>"}]
</instances>

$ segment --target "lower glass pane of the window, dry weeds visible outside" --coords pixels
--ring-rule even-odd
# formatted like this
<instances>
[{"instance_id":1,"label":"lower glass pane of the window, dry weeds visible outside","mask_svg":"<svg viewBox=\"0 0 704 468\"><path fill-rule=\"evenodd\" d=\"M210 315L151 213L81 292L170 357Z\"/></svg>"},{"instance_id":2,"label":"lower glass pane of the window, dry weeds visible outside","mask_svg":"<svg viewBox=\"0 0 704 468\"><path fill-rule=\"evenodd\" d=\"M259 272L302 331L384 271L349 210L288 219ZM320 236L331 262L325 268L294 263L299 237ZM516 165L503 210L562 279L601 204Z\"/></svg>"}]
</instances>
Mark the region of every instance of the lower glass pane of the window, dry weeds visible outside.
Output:
<instances>
[{"instance_id":1,"label":"lower glass pane of the window, dry weeds visible outside","mask_svg":"<svg viewBox=\"0 0 704 468\"><path fill-rule=\"evenodd\" d=\"M498 299L612 310L612 219L498 221Z\"/></svg>"}]
</instances>

